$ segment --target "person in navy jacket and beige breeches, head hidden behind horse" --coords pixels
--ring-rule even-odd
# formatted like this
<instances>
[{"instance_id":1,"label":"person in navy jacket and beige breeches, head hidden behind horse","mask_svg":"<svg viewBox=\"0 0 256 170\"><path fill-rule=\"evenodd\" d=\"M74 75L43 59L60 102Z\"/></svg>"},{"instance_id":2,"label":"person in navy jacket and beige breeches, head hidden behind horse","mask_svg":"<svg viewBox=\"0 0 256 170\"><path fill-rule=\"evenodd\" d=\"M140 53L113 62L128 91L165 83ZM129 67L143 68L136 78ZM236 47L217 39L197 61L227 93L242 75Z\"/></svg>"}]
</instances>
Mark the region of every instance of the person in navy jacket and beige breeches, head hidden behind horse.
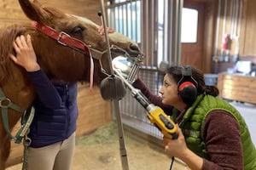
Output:
<instances>
[{"instance_id":1,"label":"person in navy jacket and beige breeches, head hidden behind horse","mask_svg":"<svg viewBox=\"0 0 256 170\"><path fill-rule=\"evenodd\" d=\"M35 116L28 134L32 143L27 150L27 170L69 170L79 114L78 85L49 80L38 65L29 35L17 37L14 48L16 56L10 58L26 69L38 94L32 103Z\"/></svg>"}]
</instances>

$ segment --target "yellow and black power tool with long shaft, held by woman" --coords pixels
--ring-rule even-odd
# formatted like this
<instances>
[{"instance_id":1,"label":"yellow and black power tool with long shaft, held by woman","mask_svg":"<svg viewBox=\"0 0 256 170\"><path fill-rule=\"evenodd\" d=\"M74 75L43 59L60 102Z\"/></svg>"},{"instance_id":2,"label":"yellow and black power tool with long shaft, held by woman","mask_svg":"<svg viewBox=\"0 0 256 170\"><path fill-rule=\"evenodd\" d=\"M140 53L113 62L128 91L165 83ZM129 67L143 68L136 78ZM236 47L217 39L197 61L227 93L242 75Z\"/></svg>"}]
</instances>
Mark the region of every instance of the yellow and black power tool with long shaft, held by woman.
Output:
<instances>
[{"instance_id":1,"label":"yellow and black power tool with long shaft, held by woman","mask_svg":"<svg viewBox=\"0 0 256 170\"><path fill-rule=\"evenodd\" d=\"M154 126L157 127L165 137L169 139L177 139L177 127L172 119L167 116L159 106L152 104L139 89L134 88L131 83L122 76L120 71L114 68L113 71L121 78L125 83L125 86L129 88L132 97L137 99L137 101L148 112L149 121L154 124Z\"/></svg>"}]
</instances>

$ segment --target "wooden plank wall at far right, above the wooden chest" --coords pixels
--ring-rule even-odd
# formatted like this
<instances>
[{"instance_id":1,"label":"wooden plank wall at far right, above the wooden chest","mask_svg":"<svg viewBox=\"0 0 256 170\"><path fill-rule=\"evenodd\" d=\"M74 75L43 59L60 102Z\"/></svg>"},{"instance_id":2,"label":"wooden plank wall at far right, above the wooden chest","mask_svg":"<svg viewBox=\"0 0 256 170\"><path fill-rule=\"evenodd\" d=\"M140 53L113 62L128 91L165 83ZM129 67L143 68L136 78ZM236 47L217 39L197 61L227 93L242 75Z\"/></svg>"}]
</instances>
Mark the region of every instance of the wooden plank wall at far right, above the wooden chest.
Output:
<instances>
[{"instance_id":1,"label":"wooden plank wall at far right, above the wooden chest","mask_svg":"<svg viewBox=\"0 0 256 170\"><path fill-rule=\"evenodd\" d=\"M220 1L220 3L221 11L217 32L218 54L221 52L224 34L230 34L228 49L230 50L231 56L236 54L236 50L239 50L240 56L256 55L256 45L254 42L256 39L256 1L224 0ZM224 9L225 3L227 4L226 9ZM216 5L216 10L218 10L218 3ZM241 18L239 16L240 14ZM236 36L238 36L239 39L236 39Z\"/></svg>"}]
</instances>

